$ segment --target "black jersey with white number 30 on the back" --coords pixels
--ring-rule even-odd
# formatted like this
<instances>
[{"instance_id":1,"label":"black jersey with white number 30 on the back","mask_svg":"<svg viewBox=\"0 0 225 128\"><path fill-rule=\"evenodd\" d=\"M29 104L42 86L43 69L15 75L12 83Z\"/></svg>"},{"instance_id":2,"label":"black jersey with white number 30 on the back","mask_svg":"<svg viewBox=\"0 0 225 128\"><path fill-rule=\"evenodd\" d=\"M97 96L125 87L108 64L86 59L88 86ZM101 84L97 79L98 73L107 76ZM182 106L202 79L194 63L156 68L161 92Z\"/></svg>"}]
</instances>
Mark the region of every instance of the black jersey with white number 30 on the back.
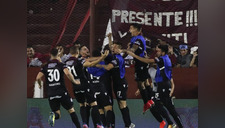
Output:
<instances>
[{"instance_id":1,"label":"black jersey with white number 30 on the back","mask_svg":"<svg viewBox=\"0 0 225 128\"><path fill-rule=\"evenodd\" d=\"M64 83L64 68L66 66L56 59L50 60L41 68L41 72L45 75L48 97L61 95L67 91Z\"/></svg>"}]
</instances>

